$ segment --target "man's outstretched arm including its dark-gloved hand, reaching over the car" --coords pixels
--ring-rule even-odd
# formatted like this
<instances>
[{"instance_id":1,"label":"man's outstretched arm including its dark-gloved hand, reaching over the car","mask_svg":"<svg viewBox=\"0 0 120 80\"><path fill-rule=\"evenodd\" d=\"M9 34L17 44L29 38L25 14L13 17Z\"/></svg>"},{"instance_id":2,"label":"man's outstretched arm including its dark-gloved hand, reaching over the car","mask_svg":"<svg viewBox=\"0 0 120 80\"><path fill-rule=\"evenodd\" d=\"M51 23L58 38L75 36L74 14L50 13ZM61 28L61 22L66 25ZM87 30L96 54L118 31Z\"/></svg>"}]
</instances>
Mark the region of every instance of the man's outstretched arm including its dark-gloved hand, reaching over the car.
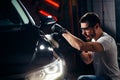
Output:
<instances>
[{"instance_id":1,"label":"man's outstretched arm including its dark-gloved hand, reaching over the car","mask_svg":"<svg viewBox=\"0 0 120 80\"><path fill-rule=\"evenodd\" d=\"M65 28L60 26L59 24L54 24L51 28L53 32L57 32L61 34L68 43L75 49L80 51L94 51L94 52L100 52L103 51L103 46L98 42L84 42L81 39L75 37L72 35L69 31L67 31Z\"/></svg>"}]
</instances>

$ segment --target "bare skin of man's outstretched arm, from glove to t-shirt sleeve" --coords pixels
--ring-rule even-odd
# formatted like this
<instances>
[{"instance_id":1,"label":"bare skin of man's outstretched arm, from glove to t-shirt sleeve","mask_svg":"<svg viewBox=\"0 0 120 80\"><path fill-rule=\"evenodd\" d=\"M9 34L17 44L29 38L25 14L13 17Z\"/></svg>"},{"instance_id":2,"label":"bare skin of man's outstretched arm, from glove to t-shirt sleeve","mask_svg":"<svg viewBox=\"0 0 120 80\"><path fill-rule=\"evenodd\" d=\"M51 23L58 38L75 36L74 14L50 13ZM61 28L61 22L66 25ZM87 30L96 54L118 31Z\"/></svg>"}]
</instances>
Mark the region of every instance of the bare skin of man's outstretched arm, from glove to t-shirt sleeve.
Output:
<instances>
[{"instance_id":1,"label":"bare skin of man's outstretched arm, from glove to t-shirt sleeve","mask_svg":"<svg viewBox=\"0 0 120 80\"><path fill-rule=\"evenodd\" d=\"M68 41L68 43L77 50L81 51L103 51L103 46L98 42L84 42L83 40L75 37L70 32L66 31L62 36Z\"/></svg>"}]
</instances>

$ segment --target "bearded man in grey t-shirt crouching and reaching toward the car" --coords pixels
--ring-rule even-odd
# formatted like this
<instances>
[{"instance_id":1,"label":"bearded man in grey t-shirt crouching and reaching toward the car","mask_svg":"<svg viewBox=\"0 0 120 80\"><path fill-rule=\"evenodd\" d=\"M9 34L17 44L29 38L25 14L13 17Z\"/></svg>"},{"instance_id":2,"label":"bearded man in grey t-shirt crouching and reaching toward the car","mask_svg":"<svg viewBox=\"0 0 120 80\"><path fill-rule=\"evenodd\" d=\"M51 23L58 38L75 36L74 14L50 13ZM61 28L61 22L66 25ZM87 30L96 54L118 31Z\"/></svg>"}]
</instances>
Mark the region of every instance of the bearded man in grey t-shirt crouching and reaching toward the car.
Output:
<instances>
[{"instance_id":1,"label":"bearded man in grey t-shirt crouching and reaching toward the car","mask_svg":"<svg viewBox=\"0 0 120 80\"><path fill-rule=\"evenodd\" d=\"M78 80L120 80L115 40L102 30L100 19L96 13L88 12L79 21L82 34L89 42L72 35L60 25L52 30L62 34L68 43L80 53L86 64L93 62L95 75L82 75Z\"/></svg>"}]
</instances>

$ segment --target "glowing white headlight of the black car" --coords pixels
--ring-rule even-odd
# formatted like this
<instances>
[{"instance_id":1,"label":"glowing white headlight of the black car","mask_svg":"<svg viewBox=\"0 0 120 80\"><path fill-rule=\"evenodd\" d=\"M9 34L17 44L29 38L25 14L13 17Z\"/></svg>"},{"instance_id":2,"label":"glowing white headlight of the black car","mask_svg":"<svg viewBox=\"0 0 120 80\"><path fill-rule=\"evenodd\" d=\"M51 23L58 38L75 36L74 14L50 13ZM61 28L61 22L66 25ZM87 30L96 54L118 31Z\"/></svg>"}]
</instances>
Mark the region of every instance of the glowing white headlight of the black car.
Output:
<instances>
[{"instance_id":1,"label":"glowing white headlight of the black car","mask_svg":"<svg viewBox=\"0 0 120 80\"><path fill-rule=\"evenodd\" d=\"M64 75L63 67L63 61L57 59L53 63L27 74L26 80L58 80Z\"/></svg>"}]
</instances>

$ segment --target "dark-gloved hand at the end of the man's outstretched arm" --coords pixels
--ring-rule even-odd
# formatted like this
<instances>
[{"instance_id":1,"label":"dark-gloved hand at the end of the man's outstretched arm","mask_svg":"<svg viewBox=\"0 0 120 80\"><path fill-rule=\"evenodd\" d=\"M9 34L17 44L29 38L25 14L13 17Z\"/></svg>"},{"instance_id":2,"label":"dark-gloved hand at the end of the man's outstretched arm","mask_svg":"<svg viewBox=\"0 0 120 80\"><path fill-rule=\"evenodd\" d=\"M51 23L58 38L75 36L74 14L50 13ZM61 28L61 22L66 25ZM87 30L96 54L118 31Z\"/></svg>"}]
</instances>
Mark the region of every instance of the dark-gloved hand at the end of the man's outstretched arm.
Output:
<instances>
[{"instance_id":1,"label":"dark-gloved hand at the end of the man's outstretched arm","mask_svg":"<svg viewBox=\"0 0 120 80\"><path fill-rule=\"evenodd\" d=\"M65 28L63 28L61 25L59 25L59 24L54 24L52 27L51 27L51 30L53 31L53 32L57 32L57 33L59 33L59 34L63 34L63 33L65 33L67 30L65 29Z\"/></svg>"}]
</instances>

